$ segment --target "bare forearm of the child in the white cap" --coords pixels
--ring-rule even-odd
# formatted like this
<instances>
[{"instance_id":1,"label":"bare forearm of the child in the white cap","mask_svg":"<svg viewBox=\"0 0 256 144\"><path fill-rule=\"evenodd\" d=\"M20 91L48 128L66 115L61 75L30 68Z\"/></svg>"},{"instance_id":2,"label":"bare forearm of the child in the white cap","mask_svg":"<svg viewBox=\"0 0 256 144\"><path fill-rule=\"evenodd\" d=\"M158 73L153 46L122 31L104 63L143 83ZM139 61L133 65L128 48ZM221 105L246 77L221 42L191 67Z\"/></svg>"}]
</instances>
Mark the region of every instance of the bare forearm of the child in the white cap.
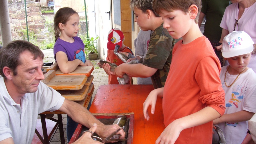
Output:
<instances>
[{"instance_id":1,"label":"bare forearm of the child in the white cap","mask_svg":"<svg viewBox=\"0 0 256 144\"><path fill-rule=\"evenodd\" d=\"M241 110L241 111L237 111L235 113L230 113L230 114L224 114L223 116L214 119L213 120L213 124L219 124L219 123L236 123L236 122L242 122L242 121L246 121L252 118L252 116L255 113L253 112L249 112L246 110Z\"/></svg>"}]
</instances>

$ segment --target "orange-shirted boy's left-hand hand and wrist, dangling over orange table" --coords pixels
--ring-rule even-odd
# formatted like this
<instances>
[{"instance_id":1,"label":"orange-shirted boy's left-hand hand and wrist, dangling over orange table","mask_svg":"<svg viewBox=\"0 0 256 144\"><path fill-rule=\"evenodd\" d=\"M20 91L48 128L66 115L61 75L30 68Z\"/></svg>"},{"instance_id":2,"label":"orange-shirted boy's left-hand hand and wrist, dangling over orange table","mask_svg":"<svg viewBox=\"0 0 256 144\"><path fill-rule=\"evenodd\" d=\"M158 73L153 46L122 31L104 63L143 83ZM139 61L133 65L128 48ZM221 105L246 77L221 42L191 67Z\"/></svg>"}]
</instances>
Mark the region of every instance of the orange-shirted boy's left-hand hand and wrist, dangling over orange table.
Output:
<instances>
[{"instance_id":1,"label":"orange-shirted boy's left-hand hand and wrist, dangling over orange table","mask_svg":"<svg viewBox=\"0 0 256 144\"><path fill-rule=\"evenodd\" d=\"M156 99L157 97L163 97L163 93L164 93L164 87L154 89L149 93L147 99L143 103L143 114L145 119L147 120L149 119L149 115L148 115L149 105L151 105L151 114L155 113Z\"/></svg>"}]
</instances>

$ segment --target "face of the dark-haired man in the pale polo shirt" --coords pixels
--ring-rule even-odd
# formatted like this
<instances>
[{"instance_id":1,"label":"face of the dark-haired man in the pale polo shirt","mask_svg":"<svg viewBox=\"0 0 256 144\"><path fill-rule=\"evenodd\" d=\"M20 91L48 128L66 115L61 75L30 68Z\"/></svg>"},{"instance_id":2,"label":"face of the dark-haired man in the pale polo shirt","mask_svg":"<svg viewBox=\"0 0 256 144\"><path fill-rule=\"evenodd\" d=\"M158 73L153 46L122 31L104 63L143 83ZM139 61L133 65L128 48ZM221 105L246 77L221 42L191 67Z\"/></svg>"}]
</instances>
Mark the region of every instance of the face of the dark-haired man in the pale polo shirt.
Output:
<instances>
[{"instance_id":1,"label":"face of the dark-haired man in the pale polo shirt","mask_svg":"<svg viewBox=\"0 0 256 144\"><path fill-rule=\"evenodd\" d=\"M39 57L33 60L33 55L29 51L24 51L20 54L20 62L16 68L17 75L12 74L13 88L21 95L36 92L40 80L44 79L41 70L43 60Z\"/></svg>"}]
</instances>

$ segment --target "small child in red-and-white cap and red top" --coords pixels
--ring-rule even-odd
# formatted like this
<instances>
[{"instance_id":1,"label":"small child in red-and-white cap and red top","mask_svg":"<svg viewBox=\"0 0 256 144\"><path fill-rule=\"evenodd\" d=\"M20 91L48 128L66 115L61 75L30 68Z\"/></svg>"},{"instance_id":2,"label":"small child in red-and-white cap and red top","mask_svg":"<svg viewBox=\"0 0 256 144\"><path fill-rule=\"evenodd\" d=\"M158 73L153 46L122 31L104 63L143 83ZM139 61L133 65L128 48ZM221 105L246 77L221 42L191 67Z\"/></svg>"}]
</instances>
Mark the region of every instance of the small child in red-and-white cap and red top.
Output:
<instances>
[{"instance_id":1,"label":"small child in red-and-white cap and red top","mask_svg":"<svg viewBox=\"0 0 256 144\"><path fill-rule=\"evenodd\" d=\"M124 62L118 58L114 54L114 49L116 45L120 46L120 48L117 50L117 52L125 52L126 56L128 58L131 58L131 55L133 55L132 49L128 48L124 45L124 34L119 28L111 29L108 32L108 56L107 61L110 63L115 63L116 65L123 64ZM102 65L98 63L99 67L102 68ZM108 75L108 84L119 84L117 81L117 76L115 75ZM131 84L131 82L130 82Z\"/></svg>"}]
</instances>

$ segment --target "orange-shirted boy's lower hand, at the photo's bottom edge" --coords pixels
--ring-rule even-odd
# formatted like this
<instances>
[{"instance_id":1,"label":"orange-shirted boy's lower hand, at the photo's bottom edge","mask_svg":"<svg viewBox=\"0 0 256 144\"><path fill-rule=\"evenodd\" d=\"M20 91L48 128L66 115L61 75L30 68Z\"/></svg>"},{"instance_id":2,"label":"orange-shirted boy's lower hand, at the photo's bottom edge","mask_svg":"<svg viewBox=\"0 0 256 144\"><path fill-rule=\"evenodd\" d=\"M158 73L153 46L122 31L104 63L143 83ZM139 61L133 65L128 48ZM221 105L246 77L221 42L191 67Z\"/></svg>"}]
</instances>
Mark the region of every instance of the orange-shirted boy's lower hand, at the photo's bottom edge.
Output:
<instances>
[{"instance_id":1,"label":"orange-shirted boy's lower hand, at the photo's bottom edge","mask_svg":"<svg viewBox=\"0 0 256 144\"><path fill-rule=\"evenodd\" d=\"M175 141L178 139L180 132L182 131L179 124L180 123L177 119L169 124L161 133L161 135L157 138L156 144L174 144Z\"/></svg>"}]
</instances>

